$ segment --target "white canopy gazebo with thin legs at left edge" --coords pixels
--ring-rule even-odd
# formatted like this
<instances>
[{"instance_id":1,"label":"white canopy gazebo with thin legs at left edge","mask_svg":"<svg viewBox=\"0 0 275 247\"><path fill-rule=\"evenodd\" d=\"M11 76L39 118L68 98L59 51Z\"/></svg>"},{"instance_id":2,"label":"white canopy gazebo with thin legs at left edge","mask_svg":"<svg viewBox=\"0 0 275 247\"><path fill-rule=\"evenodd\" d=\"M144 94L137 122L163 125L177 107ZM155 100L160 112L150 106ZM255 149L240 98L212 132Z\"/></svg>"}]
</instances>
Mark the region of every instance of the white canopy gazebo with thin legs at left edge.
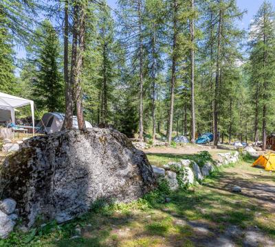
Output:
<instances>
[{"instance_id":1,"label":"white canopy gazebo with thin legs at left edge","mask_svg":"<svg viewBox=\"0 0 275 247\"><path fill-rule=\"evenodd\" d=\"M15 114L16 108L21 106L27 106L30 104L32 111L32 132L34 133L34 102L30 99L23 99L21 97L16 97L8 95L7 93L0 92L0 109L10 110L10 116L12 119L12 124L15 124Z\"/></svg>"}]
</instances>

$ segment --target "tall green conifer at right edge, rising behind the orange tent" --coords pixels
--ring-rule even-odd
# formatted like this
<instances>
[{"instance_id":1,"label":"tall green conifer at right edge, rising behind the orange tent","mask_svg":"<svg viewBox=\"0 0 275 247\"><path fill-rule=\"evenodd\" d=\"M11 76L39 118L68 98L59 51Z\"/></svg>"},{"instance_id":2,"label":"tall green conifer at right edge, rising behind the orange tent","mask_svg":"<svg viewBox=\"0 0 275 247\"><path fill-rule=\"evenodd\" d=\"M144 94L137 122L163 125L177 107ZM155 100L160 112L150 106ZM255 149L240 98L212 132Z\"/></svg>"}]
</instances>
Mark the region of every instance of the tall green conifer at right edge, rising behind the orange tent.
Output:
<instances>
[{"instance_id":1,"label":"tall green conifer at right edge, rising behind the orange tent","mask_svg":"<svg viewBox=\"0 0 275 247\"><path fill-rule=\"evenodd\" d=\"M255 140L258 132L259 113L262 113L262 138L265 150L267 126L274 97L275 69L275 12L271 3L264 1L254 16L250 27L250 73L255 95ZM261 107L261 110L259 109Z\"/></svg>"}]
</instances>

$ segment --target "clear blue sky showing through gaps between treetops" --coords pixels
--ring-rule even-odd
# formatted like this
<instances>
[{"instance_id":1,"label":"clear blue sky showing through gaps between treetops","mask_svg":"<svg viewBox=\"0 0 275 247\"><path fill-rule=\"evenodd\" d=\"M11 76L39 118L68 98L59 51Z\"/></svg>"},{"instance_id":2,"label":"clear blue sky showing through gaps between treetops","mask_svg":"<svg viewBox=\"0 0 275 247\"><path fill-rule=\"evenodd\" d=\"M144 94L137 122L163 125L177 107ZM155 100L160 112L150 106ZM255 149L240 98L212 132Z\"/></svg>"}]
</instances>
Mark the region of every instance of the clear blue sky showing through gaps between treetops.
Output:
<instances>
[{"instance_id":1,"label":"clear blue sky showing through gaps between treetops","mask_svg":"<svg viewBox=\"0 0 275 247\"><path fill-rule=\"evenodd\" d=\"M107 0L107 3L111 8L115 9L115 3L117 0ZM256 12L259 10L261 4L264 0L236 0L239 8L241 10L246 10L247 13L244 14L243 19L239 21L239 27L241 29L248 30L251 20ZM275 8L275 0L269 0ZM25 58L25 50L23 47L15 47L17 52L17 58Z\"/></svg>"}]
</instances>

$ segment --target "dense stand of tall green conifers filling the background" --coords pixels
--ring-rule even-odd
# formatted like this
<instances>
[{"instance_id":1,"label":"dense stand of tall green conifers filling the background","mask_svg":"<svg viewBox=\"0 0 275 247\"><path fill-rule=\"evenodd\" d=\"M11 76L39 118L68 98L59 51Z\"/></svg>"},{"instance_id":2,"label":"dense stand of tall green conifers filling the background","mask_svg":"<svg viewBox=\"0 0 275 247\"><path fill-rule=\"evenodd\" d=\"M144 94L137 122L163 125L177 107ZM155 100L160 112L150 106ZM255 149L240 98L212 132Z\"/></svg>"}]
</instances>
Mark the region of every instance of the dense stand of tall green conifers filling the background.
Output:
<instances>
[{"instance_id":1,"label":"dense stand of tall green conifers filling the background","mask_svg":"<svg viewBox=\"0 0 275 247\"><path fill-rule=\"evenodd\" d=\"M0 1L0 91L129 137L274 132L275 12L236 0ZM15 45L26 56L15 56ZM23 113L21 113L22 115Z\"/></svg>"}]
</instances>

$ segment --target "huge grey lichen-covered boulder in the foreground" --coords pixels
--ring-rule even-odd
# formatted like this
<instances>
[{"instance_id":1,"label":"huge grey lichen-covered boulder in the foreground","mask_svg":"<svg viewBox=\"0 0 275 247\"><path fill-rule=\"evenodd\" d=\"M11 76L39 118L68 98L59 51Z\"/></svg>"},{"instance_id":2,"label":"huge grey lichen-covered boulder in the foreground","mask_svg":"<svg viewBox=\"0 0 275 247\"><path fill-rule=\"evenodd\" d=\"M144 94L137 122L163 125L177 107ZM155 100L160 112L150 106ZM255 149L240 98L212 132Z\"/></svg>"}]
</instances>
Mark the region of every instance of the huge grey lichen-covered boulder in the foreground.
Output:
<instances>
[{"instance_id":1,"label":"huge grey lichen-covered boulder in the foreground","mask_svg":"<svg viewBox=\"0 0 275 247\"><path fill-rule=\"evenodd\" d=\"M8 156L0 194L17 202L23 225L38 215L65 222L96 200L129 202L155 187L144 152L117 130L65 130L24 141Z\"/></svg>"}]
</instances>

